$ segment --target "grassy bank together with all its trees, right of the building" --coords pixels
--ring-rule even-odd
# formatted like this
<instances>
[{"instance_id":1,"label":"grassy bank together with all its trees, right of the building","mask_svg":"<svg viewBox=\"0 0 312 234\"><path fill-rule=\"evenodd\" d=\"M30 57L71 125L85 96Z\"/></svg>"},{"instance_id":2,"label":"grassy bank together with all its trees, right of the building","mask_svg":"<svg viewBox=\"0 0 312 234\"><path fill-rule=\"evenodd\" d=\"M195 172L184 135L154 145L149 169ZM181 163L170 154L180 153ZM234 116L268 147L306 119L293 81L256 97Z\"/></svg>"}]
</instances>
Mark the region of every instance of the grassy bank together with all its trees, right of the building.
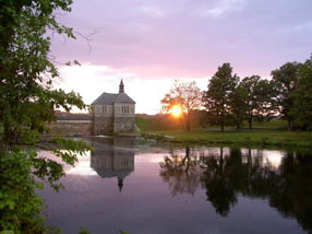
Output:
<instances>
[{"instance_id":1,"label":"grassy bank together with all its trees, right of the building","mask_svg":"<svg viewBox=\"0 0 312 234\"><path fill-rule=\"evenodd\" d=\"M312 56L303 63L283 65L271 80L240 79L226 62L201 94L194 82L176 83L160 101L164 115L137 118L143 132L153 132L144 136L187 143L312 147ZM194 96L201 97L196 105L190 102ZM173 106L184 115L170 116Z\"/></svg>"}]
</instances>

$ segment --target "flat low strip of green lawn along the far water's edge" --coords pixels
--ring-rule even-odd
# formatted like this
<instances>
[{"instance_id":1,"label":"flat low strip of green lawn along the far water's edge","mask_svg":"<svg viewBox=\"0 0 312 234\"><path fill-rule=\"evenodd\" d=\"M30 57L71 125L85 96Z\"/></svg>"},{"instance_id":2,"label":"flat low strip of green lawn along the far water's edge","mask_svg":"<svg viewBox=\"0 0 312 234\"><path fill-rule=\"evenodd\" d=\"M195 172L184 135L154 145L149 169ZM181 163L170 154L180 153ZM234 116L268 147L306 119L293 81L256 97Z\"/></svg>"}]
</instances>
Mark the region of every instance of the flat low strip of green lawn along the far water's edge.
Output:
<instances>
[{"instance_id":1,"label":"flat low strip of green lawn along the far water's edge","mask_svg":"<svg viewBox=\"0 0 312 234\"><path fill-rule=\"evenodd\" d=\"M239 144L257 147L312 148L312 132L287 131L154 131L156 138L166 141L195 144ZM170 136L168 138L164 136ZM151 136L155 138L155 136Z\"/></svg>"}]
</instances>

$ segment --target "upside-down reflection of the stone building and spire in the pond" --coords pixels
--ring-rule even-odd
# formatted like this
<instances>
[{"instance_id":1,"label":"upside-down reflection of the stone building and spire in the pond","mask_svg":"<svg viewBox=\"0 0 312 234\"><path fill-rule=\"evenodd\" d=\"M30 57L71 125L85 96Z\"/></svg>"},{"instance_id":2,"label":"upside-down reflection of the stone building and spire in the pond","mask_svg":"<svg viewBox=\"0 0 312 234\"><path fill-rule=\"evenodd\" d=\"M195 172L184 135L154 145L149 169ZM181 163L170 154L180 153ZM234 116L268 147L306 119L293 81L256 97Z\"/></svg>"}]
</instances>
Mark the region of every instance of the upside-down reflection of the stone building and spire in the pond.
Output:
<instances>
[{"instance_id":1,"label":"upside-down reflection of the stone building and spire in the pond","mask_svg":"<svg viewBox=\"0 0 312 234\"><path fill-rule=\"evenodd\" d=\"M91 153L91 167L101 178L118 178L119 190L123 179L134 171L133 138L94 138L94 151Z\"/></svg>"}]
</instances>

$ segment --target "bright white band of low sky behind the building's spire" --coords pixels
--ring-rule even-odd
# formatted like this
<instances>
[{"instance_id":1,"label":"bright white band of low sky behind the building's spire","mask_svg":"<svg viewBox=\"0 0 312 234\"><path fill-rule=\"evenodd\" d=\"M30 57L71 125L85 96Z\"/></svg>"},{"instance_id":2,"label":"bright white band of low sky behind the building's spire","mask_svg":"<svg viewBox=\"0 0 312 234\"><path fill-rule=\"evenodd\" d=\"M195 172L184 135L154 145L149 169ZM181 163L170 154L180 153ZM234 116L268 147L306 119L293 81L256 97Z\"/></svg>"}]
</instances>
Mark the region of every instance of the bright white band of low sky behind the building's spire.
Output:
<instances>
[{"instance_id":1,"label":"bright white band of low sky behind the building's spire","mask_svg":"<svg viewBox=\"0 0 312 234\"><path fill-rule=\"evenodd\" d=\"M155 115L160 113L160 100L169 92L173 83L171 78L142 79L135 73L127 73L107 66L82 66L62 67L62 79L56 87L80 93L86 104L92 104L101 93L118 93L120 80L123 80L124 91L136 102L137 114ZM197 85L205 90L209 78L180 78L181 81L196 81ZM74 113L81 113L74 109ZM84 110L82 113L85 113Z\"/></svg>"}]
</instances>

